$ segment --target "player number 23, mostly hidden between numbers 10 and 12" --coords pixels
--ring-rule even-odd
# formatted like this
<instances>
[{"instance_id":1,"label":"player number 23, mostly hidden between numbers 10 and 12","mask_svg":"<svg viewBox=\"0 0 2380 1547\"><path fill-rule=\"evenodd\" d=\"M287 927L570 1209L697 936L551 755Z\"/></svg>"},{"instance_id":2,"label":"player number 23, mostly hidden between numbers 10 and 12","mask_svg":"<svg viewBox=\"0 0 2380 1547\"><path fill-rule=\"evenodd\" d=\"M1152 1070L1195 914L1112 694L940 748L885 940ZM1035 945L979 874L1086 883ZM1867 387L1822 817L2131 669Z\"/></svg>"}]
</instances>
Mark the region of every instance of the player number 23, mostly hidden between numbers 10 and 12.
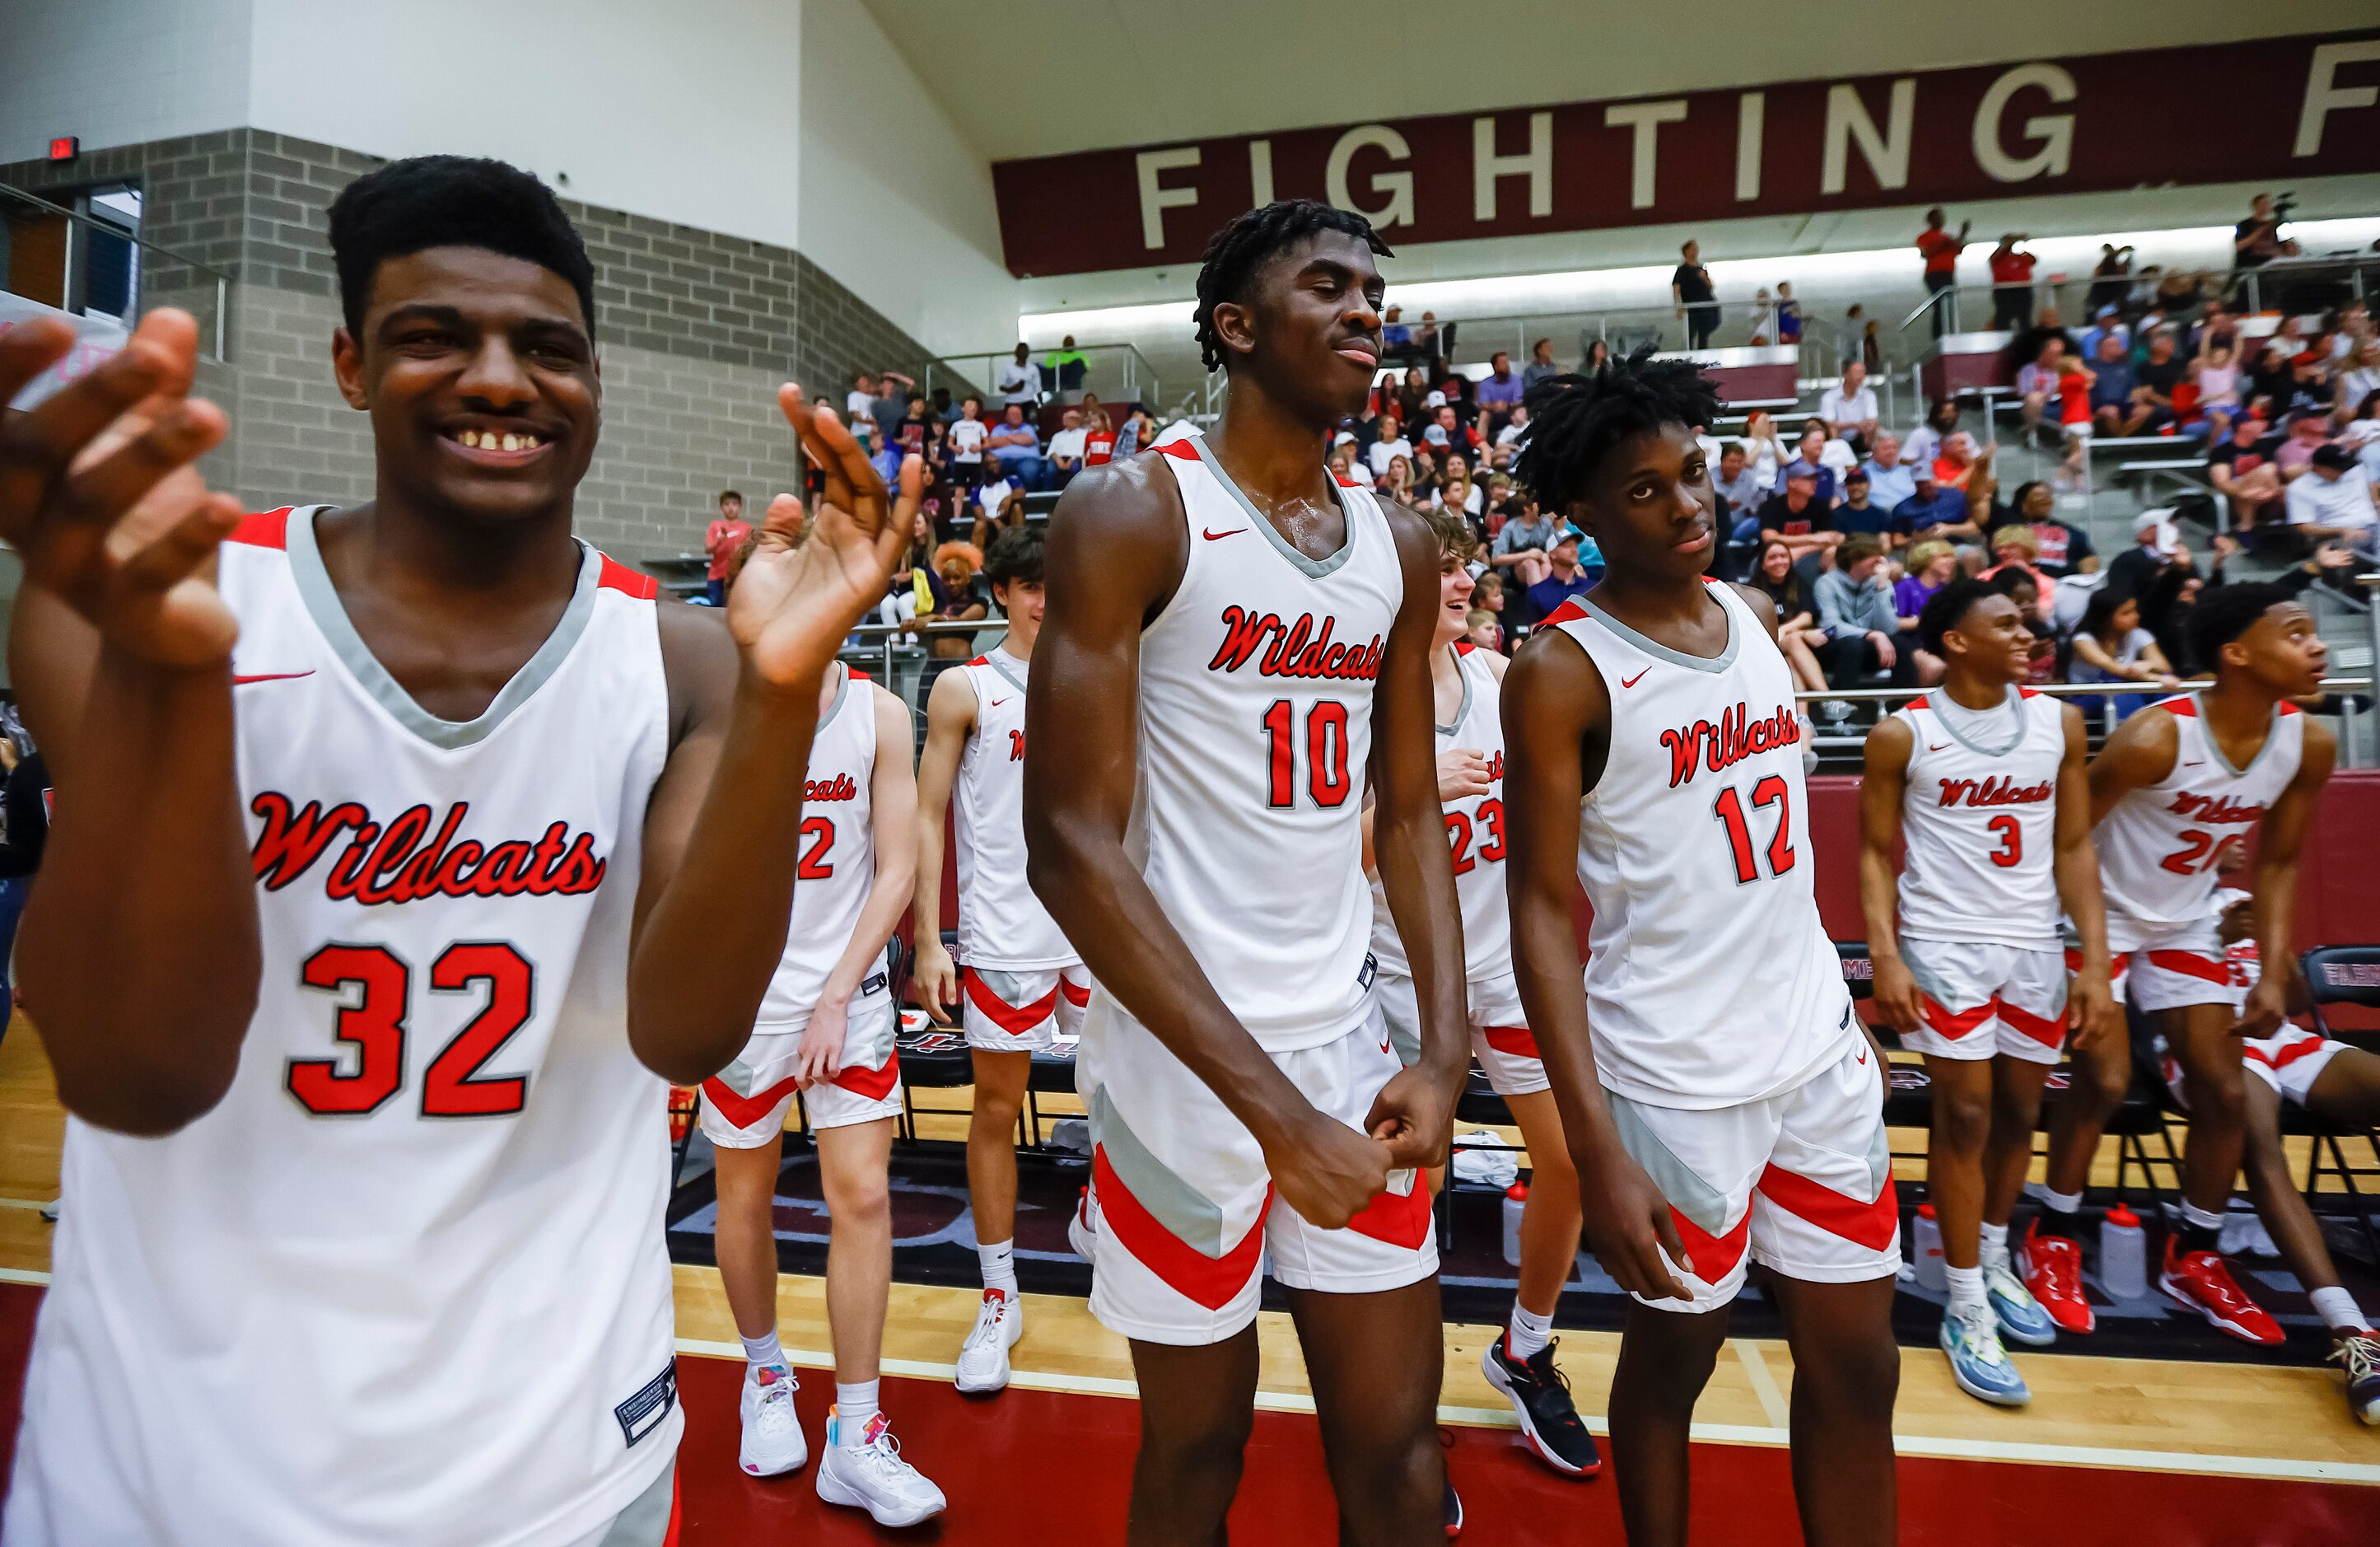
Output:
<instances>
[{"instance_id":1,"label":"player number 23, mostly hidden between numbers 10 and 12","mask_svg":"<svg viewBox=\"0 0 2380 1547\"><path fill-rule=\"evenodd\" d=\"M1461 512L1421 512L1438 540L1438 633L1430 695L1438 721L1438 800L1447 812L1454 895L1464 907L1471 1054L1504 1097L1528 1145L1528 1202L1521 1209L1521 1283L1504 1335L1480 1354L1488 1385L1504 1392L1530 1449L1568 1476L1602 1471L1595 1435L1578 1418L1571 1383L1554 1366L1554 1304L1578 1261L1578 1176L1561 1142L1561 1114L1547 1095L1537 1040L1521 1019L1511 983L1511 914L1504 904L1504 657L1464 643L1471 609L1471 555L1478 543ZM1364 814L1371 866L1371 812ZM1371 883L1371 954L1380 966L1380 1012L1399 1059L1421 1057L1414 973L1378 873Z\"/></svg>"}]
</instances>

